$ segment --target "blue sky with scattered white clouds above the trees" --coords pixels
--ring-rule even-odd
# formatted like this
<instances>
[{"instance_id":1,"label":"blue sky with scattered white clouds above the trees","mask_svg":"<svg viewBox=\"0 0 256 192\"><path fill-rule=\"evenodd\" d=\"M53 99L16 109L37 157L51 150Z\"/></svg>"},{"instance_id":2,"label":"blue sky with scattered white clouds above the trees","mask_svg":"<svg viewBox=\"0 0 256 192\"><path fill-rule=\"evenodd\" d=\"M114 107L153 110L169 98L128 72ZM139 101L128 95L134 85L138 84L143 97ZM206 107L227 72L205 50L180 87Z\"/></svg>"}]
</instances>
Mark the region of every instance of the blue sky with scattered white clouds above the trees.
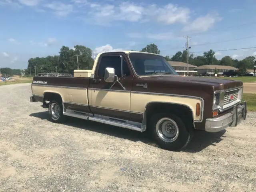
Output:
<instances>
[{"instance_id":1,"label":"blue sky with scattered white clouds above the trees","mask_svg":"<svg viewBox=\"0 0 256 192\"><path fill-rule=\"evenodd\" d=\"M221 59L254 56L256 0L0 0L0 67L27 68L28 59L81 44L94 54L158 46ZM228 50L228 51L221 51Z\"/></svg>"}]
</instances>

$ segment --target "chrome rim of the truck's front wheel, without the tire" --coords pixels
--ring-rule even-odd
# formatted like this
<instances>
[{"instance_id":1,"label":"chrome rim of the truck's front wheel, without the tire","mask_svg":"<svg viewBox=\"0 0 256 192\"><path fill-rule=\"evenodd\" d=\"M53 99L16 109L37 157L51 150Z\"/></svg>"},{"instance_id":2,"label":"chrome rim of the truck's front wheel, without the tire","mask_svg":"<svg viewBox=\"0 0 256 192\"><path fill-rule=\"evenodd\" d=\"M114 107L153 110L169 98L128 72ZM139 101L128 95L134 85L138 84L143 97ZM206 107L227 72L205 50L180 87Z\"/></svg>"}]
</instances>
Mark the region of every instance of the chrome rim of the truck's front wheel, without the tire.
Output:
<instances>
[{"instance_id":1,"label":"chrome rim of the truck's front wheel, without the tire","mask_svg":"<svg viewBox=\"0 0 256 192\"><path fill-rule=\"evenodd\" d=\"M162 118L156 123L156 133L164 142L174 142L179 135L178 125L171 118Z\"/></svg>"}]
</instances>

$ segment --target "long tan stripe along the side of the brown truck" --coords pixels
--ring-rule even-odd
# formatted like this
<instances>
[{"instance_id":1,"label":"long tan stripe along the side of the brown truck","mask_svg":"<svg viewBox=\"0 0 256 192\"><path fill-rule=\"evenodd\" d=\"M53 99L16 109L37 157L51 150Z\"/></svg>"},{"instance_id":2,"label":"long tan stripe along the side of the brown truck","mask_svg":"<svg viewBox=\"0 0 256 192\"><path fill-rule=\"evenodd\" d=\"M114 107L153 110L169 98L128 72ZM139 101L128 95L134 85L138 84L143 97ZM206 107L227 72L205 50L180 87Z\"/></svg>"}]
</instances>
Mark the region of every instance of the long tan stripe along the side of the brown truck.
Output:
<instances>
[{"instance_id":1,"label":"long tan stripe along the side of the brown truck","mask_svg":"<svg viewBox=\"0 0 256 192\"><path fill-rule=\"evenodd\" d=\"M165 102L182 104L188 106L193 113L194 121L202 120L202 100L199 98L186 96L172 96L150 93L122 92L111 90L99 90L89 88L60 88L53 86L33 86L33 94L44 96L45 92L54 92L60 94L63 102L74 104L92 105L96 107L109 108L113 110L131 111L144 114L146 105L150 102ZM87 98L88 91L88 98ZM71 100L72 98L72 100ZM89 104L88 104L89 101ZM196 103L200 103L201 113L196 116Z\"/></svg>"}]
</instances>

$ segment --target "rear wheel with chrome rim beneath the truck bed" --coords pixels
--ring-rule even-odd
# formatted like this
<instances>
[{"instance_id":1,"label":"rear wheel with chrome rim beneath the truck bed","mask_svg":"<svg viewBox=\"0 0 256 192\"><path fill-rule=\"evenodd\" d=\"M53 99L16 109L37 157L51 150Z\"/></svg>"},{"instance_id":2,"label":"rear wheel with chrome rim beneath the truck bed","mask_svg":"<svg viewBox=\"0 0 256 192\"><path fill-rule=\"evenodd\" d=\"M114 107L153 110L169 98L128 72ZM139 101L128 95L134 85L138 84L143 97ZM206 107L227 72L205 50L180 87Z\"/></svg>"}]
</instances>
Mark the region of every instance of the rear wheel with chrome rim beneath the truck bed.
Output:
<instances>
[{"instance_id":1,"label":"rear wheel with chrome rim beneath the truck bed","mask_svg":"<svg viewBox=\"0 0 256 192\"><path fill-rule=\"evenodd\" d=\"M58 113L52 112L52 109L51 109L52 107L58 108L59 112ZM55 123L62 123L62 122L64 122L65 117L63 115L63 107L62 107L62 103L60 101L58 101L58 100L51 100L49 102L48 111L50 113L52 122L55 122Z\"/></svg>"}]
</instances>

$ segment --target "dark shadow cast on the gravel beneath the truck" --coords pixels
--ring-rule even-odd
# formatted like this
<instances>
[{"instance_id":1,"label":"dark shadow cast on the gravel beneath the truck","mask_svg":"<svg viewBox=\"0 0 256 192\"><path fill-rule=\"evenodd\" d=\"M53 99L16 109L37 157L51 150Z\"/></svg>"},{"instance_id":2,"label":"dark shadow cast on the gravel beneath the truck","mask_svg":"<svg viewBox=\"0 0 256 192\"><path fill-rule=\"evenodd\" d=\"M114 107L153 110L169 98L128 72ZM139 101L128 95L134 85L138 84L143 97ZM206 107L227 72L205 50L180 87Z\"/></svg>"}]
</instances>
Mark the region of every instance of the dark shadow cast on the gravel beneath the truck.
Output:
<instances>
[{"instance_id":1,"label":"dark shadow cast on the gravel beneath the truck","mask_svg":"<svg viewBox=\"0 0 256 192\"><path fill-rule=\"evenodd\" d=\"M51 121L48 111L32 113L30 114L30 116L40 118L41 120ZM155 144L154 141L150 139L147 132L137 132L137 131L129 130L126 128L120 128L116 126L101 124L98 122L83 120L79 118L73 118L69 116L67 116L67 120L65 123L63 123L63 125L72 126L72 127L89 130L93 132L98 132L102 134L107 134L109 136L114 136L118 138L128 139L133 142L140 141L150 146L159 148L158 145ZM223 130L218 133L208 133L208 132L196 130L190 144L182 151L197 153L207 148L210 145L216 146L217 143L222 141L222 138L226 137L224 136L225 132L226 130Z\"/></svg>"}]
</instances>

